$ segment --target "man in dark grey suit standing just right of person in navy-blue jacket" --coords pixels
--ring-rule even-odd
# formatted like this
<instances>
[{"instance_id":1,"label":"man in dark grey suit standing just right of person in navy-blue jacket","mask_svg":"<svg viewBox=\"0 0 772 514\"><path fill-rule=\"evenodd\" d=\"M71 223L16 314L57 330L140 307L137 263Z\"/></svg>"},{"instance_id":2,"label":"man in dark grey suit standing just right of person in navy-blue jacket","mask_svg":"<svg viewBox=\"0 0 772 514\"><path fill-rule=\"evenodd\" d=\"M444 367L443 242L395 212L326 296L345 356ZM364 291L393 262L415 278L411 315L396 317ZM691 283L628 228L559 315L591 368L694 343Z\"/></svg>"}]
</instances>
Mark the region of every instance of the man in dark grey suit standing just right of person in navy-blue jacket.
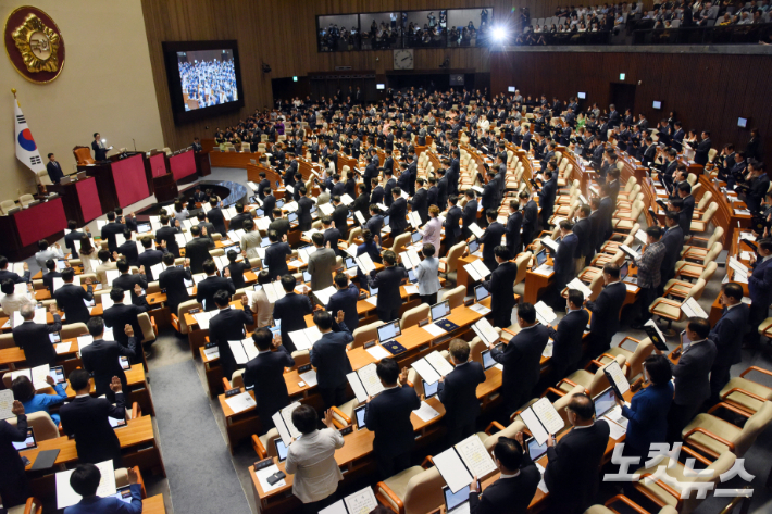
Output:
<instances>
[{"instance_id":1,"label":"man in dark grey suit standing just right of person in navy-blue jacket","mask_svg":"<svg viewBox=\"0 0 772 514\"><path fill-rule=\"evenodd\" d=\"M681 431L710 398L710 369L715 362L715 343L708 339L710 324L699 317L689 318L686 337L692 343L681 352L678 364L672 364L675 396L668 412L668 442L681 441ZM658 355L662 350L655 347Z\"/></svg>"}]
</instances>

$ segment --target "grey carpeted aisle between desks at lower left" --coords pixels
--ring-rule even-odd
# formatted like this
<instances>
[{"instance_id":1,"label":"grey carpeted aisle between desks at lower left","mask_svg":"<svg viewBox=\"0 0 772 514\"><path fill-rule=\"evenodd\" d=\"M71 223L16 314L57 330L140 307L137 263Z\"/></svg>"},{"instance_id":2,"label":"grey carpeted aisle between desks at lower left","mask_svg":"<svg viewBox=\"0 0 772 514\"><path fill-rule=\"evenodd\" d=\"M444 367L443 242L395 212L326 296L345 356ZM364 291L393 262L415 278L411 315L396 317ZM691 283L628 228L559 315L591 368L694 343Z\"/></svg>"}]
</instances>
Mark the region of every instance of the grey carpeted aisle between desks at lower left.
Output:
<instances>
[{"instance_id":1,"label":"grey carpeted aisle between desks at lower left","mask_svg":"<svg viewBox=\"0 0 772 514\"><path fill-rule=\"evenodd\" d=\"M154 368L152 388L174 512L251 512L194 362Z\"/></svg>"}]
</instances>

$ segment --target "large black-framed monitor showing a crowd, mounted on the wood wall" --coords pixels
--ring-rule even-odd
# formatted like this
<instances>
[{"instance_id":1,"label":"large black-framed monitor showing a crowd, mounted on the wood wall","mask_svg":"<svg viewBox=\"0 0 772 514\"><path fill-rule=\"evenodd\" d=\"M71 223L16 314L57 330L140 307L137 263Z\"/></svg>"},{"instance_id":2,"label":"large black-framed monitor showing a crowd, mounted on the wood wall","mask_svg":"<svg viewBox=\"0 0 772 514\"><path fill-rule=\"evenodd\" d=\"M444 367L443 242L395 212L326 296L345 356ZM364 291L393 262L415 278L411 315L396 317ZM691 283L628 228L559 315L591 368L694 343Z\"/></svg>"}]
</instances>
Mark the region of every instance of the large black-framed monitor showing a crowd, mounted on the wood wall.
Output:
<instances>
[{"instance_id":1,"label":"large black-framed monitor showing a crowd, mounted on the wood wall","mask_svg":"<svg viewBox=\"0 0 772 514\"><path fill-rule=\"evenodd\" d=\"M175 123L244 106L237 41L164 41L162 46Z\"/></svg>"}]
</instances>

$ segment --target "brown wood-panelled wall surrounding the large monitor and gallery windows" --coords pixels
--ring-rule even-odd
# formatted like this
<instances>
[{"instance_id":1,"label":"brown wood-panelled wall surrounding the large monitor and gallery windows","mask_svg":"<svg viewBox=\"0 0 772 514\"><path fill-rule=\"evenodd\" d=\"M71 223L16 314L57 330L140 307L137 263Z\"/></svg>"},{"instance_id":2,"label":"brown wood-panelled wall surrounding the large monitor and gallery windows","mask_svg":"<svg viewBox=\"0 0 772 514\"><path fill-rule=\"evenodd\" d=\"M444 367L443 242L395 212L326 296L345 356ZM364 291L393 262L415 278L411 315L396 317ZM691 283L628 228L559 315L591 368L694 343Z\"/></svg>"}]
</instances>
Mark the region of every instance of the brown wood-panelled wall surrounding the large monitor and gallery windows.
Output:
<instances>
[{"instance_id":1,"label":"brown wood-panelled wall surrounding the large monitor and gallery windows","mask_svg":"<svg viewBox=\"0 0 772 514\"><path fill-rule=\"evenodd\" d=\"M306 76L310 72L334 71L335 66L375 70L378 75L393 68L390 50L319 53L317 15L493 7L496 23L514 27L524 7L530 9L532 17L543 17L551 16L558 5L570 4L566 0L141 0L141 3L165 145L173 149L190 145L194 136L211 136L216 126L229 124L238 115L175 125L162 41L238 40L245 89L240 114L246 116L256 108L271 105L271 78ZM489 55L484 48L416 49L414 67L436 70L449 58L451 68L487 73ZM271 65L267 75L261 71L263 62Z\"/></svg>"}]
</instances>

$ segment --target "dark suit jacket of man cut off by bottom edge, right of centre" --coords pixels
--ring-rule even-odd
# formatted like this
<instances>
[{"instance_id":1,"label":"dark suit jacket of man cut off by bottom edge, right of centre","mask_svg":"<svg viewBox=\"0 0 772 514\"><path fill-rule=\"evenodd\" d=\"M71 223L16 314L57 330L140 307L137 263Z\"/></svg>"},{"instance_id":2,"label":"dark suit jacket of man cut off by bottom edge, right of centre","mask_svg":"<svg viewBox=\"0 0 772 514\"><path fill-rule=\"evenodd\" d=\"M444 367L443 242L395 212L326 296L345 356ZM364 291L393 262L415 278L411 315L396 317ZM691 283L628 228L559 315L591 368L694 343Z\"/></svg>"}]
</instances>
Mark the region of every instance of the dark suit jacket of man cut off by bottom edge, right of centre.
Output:
<instances>
[{"instance_id":1,"label":"dark suit jacket of man cut off by bottom edge, right of centre","mask_svg":"<svg viewBox=\"0 0 772 514\"><path fill-rule=\"evenodd\" d=\"M536 493L541 475L528 452L523 453L520 474L511 478L499 478L485 488L483 494L470 493L471 514L525 514Z\"/></svg>"}]
</instances>

